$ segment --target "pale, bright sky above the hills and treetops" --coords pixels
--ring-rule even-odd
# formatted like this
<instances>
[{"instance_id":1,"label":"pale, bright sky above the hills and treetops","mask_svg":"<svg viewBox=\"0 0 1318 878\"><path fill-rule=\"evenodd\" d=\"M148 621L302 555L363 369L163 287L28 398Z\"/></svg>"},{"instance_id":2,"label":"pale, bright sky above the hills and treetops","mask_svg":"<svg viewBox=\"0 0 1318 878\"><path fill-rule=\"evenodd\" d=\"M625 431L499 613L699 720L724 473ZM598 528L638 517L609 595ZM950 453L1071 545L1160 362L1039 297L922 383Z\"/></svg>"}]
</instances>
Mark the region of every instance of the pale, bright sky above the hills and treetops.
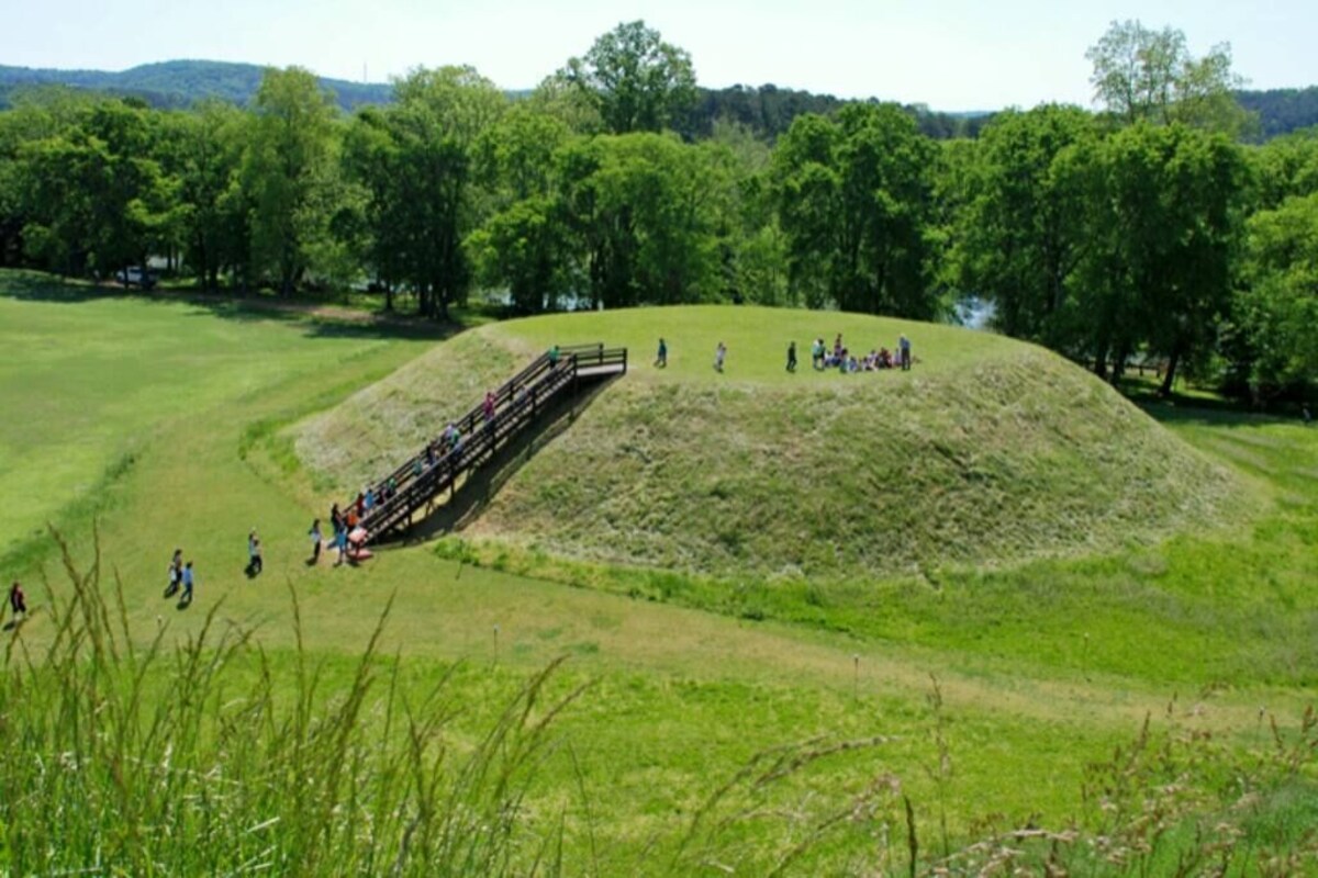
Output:
<instances>
[{"instance_id":1,"label":"pale, bright sky above the hills and treetops","mask_svg":"<svg viewBox=\"0 0 1318 878\"><path fill-rule=\"evenodd\" d=\"M619 21L692 55L701 86L774 83L940 111L1091 105L1085 50L1108 24L1231 43L1251 88L1318 84L1315 0L3 0L0 65L125 70L179 58L301 65L386 82L472 65L531 88Z\"/></svg>"}]
</instances>

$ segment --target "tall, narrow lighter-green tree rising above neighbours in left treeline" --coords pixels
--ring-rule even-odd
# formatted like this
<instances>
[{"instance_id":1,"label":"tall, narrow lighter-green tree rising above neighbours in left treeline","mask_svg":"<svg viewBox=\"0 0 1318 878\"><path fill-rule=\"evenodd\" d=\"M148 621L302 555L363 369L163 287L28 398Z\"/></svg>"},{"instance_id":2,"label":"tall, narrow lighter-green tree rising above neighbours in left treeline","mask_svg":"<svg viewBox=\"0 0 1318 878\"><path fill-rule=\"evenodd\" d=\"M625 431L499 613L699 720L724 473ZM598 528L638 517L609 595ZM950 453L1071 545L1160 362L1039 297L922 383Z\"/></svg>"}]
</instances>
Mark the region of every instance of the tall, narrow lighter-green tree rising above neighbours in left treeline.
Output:
<instances>
[{"instance_id":1,"label":"tall, narrow lighter-green tree rising above neighbours in left treeline","mask_svg":"<svg viewBox=\"0 0 1318 878\"><path fill-rule=\"evenodd\" d=\"M323 191L333 186L336 109L315 75L289 67L266 71L253 112L243 165L252 261L287 296L330 237Z\"/></svg>"}]
</instances>

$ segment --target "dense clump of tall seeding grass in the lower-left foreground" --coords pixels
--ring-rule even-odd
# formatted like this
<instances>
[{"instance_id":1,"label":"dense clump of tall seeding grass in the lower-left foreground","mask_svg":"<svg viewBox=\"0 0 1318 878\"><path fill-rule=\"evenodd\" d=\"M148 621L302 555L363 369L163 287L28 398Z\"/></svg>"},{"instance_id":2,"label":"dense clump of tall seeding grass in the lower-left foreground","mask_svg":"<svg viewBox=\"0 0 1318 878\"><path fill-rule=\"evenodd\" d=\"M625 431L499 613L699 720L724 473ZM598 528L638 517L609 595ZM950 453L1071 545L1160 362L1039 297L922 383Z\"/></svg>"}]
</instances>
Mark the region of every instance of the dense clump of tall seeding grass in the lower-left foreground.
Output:
<instances>
[{"instance_id":1,"label":"dense clump of tall seeding grass in the lower-left foreground","mask_svg":"<svg viewBox=\"0 0 1318 878\"><path fill-rule=\"evenodd\" d=\"M0 871L53 874L546 874L560 820L525 807L580 692L546 702L534 675L474 746L445 736L460 704L440 679L410 699L377 644L345 691L322 691L299 649L291 696L249 631L219 621L170 645L130 636L99 552L71 594L50 588L38 648L18 627L0 674ZM297 600L294 595L294 602ZM294 613L297 619L297 613ZM244 674L250 662L254 674Z\"/></svg>"}]
</instances>

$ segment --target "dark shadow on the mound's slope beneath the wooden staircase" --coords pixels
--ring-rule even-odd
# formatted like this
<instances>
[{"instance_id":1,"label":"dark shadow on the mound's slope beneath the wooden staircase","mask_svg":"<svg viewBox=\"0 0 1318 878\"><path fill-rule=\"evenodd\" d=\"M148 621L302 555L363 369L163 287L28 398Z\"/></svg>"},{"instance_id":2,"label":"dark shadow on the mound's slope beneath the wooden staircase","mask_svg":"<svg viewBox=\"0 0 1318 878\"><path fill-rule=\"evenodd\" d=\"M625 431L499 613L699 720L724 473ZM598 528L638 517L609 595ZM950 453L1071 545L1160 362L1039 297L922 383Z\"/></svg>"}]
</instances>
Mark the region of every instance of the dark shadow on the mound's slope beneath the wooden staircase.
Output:
<instances>
[{"instance_id":1,"label":"dark shadow on the mound's slope beneath the wooden staircase","mask_svg":"<svg viewBox=\"0 0 1318 878\"><path fill-rule=\"evenodd\" d=\"M538 423L500 449L485 466L468 475L447 502L436 498L430 507L418 511L419 517L401 541L382 545L415 545L461 530L473 523L500 488L554 438L565 433L581 412L618 378L621 375L594 379L583 384L575 396L568 396L547 409Z\"/></svg>"}]
</instances>

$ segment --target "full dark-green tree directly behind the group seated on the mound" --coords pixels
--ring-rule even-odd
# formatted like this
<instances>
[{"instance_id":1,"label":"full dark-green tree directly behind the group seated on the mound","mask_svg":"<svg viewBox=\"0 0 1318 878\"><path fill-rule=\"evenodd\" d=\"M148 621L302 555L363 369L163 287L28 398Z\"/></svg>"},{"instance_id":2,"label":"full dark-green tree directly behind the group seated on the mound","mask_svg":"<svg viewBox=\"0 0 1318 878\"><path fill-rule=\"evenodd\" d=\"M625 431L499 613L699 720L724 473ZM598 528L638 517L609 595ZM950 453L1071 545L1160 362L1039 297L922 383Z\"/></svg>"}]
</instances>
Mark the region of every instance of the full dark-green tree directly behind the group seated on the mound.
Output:
<instances>
[{"instance_id":1,"label":"full dark-green tree directly behind the group seated on the mound","mask_svg":"<svg viewBox=\"0 0 1318 878\"><path fill-rule=\"evenodd\" d=\"M774 154L793 286L812 307L929 319L933 142L892 104L801 116Z\"/></svg>"}]
</instances>

